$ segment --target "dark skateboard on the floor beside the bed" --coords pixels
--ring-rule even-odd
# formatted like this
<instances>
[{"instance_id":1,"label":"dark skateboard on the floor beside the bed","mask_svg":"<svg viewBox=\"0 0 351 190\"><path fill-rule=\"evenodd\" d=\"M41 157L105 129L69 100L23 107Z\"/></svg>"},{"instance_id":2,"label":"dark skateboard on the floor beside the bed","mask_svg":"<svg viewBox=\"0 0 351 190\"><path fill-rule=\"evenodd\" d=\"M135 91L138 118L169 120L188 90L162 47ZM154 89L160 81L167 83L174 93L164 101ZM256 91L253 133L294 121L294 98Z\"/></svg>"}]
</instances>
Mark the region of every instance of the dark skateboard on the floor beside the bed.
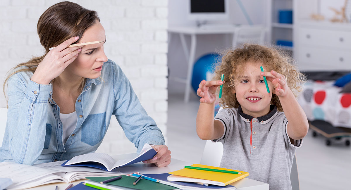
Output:
<instances>
[{"instance_id":1,"label":"dark skateboard on the floor beside the bed","mask_svg":"<svg viewBox=\"0 0 351 190\"><path fill-rule=\"evenodd\" d=\"M345 145L350 146L351 128L334 127L332 124L323 120L314 120L310 122L310 128L313 130L312 136L317 137L317 134L326 137L325 144L331 145L332 140L340 141L346 138Z\"/></svg>"}]
</instances>

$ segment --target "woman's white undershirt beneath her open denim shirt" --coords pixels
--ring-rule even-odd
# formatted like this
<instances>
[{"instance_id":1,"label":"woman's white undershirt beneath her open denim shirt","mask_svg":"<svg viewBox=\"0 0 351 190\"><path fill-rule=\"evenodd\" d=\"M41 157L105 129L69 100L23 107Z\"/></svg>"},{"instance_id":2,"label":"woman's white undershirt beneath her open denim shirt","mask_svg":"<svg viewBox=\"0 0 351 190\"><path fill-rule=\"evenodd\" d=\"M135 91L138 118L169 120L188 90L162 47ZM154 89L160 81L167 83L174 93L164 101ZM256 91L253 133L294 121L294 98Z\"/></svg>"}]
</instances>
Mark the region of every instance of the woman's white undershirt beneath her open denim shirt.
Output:
<instances>
[{"instance_id":1,"label":"woman's white undershirt beneath her open denim shirt","mask_svg":"<svg viewBox=\"0 0 351 190\"><path fill-rule=\"evenodd\" d=\"M62 131L63 136L62 139L64 140L64 144L66 143L68 137L72 134L75 125L77 125L77 113L72 112L70 114L61 114L60 113L60 120L62 122Z\"/></svg>"}]
</instances>

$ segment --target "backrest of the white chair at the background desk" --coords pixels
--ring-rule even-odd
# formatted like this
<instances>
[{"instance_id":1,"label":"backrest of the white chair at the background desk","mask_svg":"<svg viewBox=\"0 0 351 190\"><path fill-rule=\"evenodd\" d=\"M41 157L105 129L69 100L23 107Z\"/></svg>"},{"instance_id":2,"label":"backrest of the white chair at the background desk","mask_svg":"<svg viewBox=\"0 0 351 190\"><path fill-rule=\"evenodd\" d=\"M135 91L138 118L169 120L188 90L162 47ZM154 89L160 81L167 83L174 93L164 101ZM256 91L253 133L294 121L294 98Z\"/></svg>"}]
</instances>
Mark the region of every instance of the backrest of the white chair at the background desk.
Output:
<instances>
[{"instance_id":1,"label":"backrest of the white chair at the background desk","mask_svg":"<svg viewBox=\"0 0 351 190\"><path fill-rule=\"evenodd\" d=\"M266 28L263 25L242 25L236 27L233 35L234 48L243 43L257 43L263 45Z\"/></svg>"}]
</instances>

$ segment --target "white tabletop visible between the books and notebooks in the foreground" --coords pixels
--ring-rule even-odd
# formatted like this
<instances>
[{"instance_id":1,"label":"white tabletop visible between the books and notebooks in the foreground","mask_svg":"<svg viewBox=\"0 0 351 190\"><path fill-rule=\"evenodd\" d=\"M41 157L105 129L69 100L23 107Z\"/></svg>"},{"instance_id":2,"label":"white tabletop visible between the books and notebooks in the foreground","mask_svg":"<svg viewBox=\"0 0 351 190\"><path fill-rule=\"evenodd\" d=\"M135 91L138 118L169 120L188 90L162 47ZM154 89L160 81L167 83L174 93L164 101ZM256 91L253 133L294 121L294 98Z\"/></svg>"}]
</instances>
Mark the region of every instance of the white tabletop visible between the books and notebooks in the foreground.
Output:
<instances>
[{"instance_id":1,"label":"white tabletop visible between the books and notebooks in the foreground","mask_svg":"<svg viewBox=\"0 0 351 190\"><path fill-rule=\"evenodd\" d=\"M113 158L116 159L126 159L126 158L135 158L137 156L136 153L134 154L126 154L126 155L117 155L117 156L112 156ZM171 171L176 171L176 170L180 170L184 168L184 165L191 165L192 163L188 163L188 162L184 162L184 161L180 161L174 158L171 158L171 163L166 166L166 167L162 167L159 168L153 164L145 164L143 162L139 162L139 163L135 163L135 164L131 164L131 165L127 165L121 168L118 168L116 170L124 172L126 174L130 174L133 172L137 172L139 171L140 174L161 174L161 173L167 173L167 172L171 172ZM81 179L78 181L74 181L72 182L73 185L77 185L80 182L84 182L85 179ZM48 190L48 189L52 189L54 190L56 185L58 186L59 190L63 190L66 189L66 187L69 185L70 183L51 183L51 184L47 184L47 185L40 185L34 188L30 188L30 189L35 189L35 190ZM237 190L268 190L269 189L269 185L267 183L263 183L263 182L259 182L253 179L249 179L249 178L244 178L244 179L240 179L239 181L236 181L234 183L232 183L231 185L236 186Z\"/></svg>"}]
</instances>

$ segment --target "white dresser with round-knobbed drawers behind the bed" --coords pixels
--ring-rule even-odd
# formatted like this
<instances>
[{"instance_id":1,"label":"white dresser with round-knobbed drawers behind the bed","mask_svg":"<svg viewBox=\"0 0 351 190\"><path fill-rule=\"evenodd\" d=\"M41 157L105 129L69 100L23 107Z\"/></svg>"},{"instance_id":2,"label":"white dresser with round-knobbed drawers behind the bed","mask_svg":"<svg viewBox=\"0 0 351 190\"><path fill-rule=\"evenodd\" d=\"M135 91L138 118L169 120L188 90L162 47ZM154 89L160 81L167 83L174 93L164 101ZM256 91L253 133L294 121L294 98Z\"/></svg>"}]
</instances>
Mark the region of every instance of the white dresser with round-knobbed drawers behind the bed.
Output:
<instances>
[{"instance_id":1,"label":"white dresser with round-knobbed drawers behind the bed","mask_svg":"<svg viewBox=\"0 0 351 190\"><path fill-rule=\"evenodd\" d=\"M351 23L300 20L294 30L301 70L351 70Z\"/></svg>"}]
</instances>

